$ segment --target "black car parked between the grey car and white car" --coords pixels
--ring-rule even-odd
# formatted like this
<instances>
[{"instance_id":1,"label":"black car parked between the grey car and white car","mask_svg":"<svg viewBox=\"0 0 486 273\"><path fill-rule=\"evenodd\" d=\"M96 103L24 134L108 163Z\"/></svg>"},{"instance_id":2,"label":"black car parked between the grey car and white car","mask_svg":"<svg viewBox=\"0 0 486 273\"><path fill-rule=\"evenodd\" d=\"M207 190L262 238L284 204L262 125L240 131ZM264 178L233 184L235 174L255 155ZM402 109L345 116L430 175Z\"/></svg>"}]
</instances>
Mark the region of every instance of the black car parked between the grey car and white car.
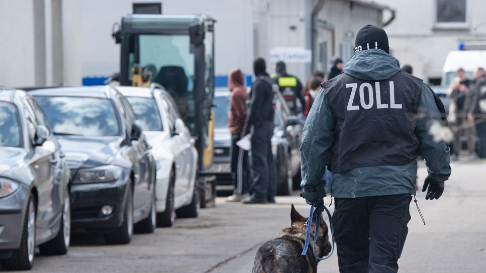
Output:
<instances>
[{"instance_id":1,"label":"black car parked between the grey car and white car","mask_svg":"<svg viewBox=\"0 0 486 273\"><path fill-rule=\"evenodd\" d=\"M155 162L135 114L110 86L30 92L46 113L71 169L73 229L102 232L128 243L133 225L156 225Z\"/></svg>"}]
</instances>

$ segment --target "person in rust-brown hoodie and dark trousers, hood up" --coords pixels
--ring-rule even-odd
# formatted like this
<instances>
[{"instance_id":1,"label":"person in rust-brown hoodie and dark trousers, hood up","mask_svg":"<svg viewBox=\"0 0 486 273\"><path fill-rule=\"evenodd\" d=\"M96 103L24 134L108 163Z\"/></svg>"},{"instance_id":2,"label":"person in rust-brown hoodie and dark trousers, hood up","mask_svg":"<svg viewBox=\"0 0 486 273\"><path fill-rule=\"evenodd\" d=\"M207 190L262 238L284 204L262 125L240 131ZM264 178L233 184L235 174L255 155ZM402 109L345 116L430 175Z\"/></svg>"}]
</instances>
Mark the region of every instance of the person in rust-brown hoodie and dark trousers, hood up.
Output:
<instances>
[{"instance_id":1,"label":"person in rust-brown hoodie and dark trousers, hood up","mask_svg":"<svg viewBox=\"0 0 486 273\"><path fill-rule=\"evenodd\" d=\"M248 94L243 72L239 68L231 69L228 74L228 87L231 90L228 128L231 133L231 176L235 190L226 201L240 202L248 195L248 152L236 144L241 139L246 121L246 100Z\"/></svg>"}]
</instances>

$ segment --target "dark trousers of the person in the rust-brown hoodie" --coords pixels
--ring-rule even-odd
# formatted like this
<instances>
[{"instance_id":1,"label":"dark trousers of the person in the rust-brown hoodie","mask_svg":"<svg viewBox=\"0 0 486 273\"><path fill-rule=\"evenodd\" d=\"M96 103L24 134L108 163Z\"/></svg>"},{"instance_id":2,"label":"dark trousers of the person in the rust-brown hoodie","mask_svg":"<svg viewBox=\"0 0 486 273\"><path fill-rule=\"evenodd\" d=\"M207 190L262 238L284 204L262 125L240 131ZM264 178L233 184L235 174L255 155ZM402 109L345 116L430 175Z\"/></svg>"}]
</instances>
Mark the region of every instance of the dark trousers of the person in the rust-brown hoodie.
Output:
<instances>
[{"instance_id":1,"label":"dark trousers of the person in the rust-brown hoodie","mask_svg":"<svg viewBox=\"0 0 486 273\"><path fill-rule=\"evenodd\" d=\"M241 139L240 134L231 134L231 178L235 186L235 194L247 194L248 183L248 152L236 144Z\"/></svg>"}]
</instances>

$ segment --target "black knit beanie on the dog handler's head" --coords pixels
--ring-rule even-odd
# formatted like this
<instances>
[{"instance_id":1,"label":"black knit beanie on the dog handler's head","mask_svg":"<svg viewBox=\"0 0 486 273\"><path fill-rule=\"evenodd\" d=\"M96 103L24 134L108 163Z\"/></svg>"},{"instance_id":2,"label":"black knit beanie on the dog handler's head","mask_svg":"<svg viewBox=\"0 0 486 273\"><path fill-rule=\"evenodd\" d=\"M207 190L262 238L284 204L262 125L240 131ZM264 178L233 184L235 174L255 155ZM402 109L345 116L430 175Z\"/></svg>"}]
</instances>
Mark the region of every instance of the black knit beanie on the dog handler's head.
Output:
<instances>
[{"instance_id":1,"label":"black knit beanie on the dog handler's head","mask_svg":"<svg viewBox=\"0 0 486 273\"><path fill-rule=\"evenodd\" d=\"M382 28L366 25L358 31L358 34L356 34L354 52L373 48L381 49L390 54L390 46L388 46L388 36L386 35L386 32Z\"/></svg>"}]
</instances>

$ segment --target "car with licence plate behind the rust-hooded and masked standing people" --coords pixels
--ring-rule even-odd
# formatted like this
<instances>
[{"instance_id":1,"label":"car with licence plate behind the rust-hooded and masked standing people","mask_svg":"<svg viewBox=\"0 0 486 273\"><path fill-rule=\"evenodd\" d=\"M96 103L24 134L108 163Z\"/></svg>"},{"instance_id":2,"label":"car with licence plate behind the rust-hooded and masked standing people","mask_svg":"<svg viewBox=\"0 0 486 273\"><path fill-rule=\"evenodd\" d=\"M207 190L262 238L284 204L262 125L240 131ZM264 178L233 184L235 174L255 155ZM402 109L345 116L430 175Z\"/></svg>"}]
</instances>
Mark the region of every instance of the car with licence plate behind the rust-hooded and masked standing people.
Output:
<instances>
[{"instance_id":1,"label":"car with licence plate behind the rust-hooded and masked standing people","mask_svg":"<svg viewBox=\"0 0 486 273\"><path fill-rule=\"evenodd\" d=\"M231 133L228 129L230 93L217 90L215 93L215 136L213 165L209 173L217 177L218 189L231 187ZM303 125L301 119L290 115L290 110L280 93L274 94L274 130L271 139L272 153L276 165L277 194L289 195L300 188L300 155Z\"/></svg>"}]
</instances>

